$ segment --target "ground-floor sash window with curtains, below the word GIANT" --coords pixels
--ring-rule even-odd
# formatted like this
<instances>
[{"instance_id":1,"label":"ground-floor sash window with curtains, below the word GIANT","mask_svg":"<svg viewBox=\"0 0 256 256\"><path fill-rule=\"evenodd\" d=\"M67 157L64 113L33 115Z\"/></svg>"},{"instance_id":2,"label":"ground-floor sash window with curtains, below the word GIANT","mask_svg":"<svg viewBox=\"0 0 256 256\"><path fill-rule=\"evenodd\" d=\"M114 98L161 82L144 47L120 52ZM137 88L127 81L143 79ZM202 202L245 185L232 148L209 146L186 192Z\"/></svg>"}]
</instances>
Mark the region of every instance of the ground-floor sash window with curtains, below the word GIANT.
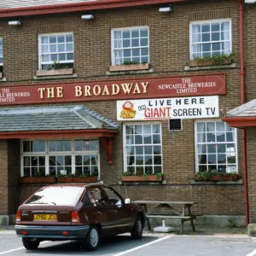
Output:
<instances>
[{"instance_id":1,"label":"ground-floor sash window with curtains, below the word GIANT","mask_svg":"<svg viewBox=\"0 0 256 256\"><path fill-rule=\"evenodd\" d=\"M124 125L125 172L162 172L160 124Z\"/></svg>"}]
</instances>

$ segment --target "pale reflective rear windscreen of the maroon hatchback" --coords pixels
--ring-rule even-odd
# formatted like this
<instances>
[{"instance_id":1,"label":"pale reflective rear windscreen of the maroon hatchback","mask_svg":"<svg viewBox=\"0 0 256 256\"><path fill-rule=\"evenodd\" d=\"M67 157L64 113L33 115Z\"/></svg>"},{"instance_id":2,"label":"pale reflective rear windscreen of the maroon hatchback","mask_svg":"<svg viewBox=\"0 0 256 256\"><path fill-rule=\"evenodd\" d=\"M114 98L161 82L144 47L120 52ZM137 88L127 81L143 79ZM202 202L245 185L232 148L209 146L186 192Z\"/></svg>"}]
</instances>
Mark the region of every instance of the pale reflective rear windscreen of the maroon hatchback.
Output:
<instances>
[{"instance_id":1,"label":"pale reflective rear windscreen of the maroon hatchback","mask_svg":"<svg viewBox=\"0 0 256 256\"><path fill-rule=\"evenodd\" d=\"M56 206L73 206L82 195L83 187L49 187L40 189L25 204L53 204Z\"/></svg>"}]
</instances>

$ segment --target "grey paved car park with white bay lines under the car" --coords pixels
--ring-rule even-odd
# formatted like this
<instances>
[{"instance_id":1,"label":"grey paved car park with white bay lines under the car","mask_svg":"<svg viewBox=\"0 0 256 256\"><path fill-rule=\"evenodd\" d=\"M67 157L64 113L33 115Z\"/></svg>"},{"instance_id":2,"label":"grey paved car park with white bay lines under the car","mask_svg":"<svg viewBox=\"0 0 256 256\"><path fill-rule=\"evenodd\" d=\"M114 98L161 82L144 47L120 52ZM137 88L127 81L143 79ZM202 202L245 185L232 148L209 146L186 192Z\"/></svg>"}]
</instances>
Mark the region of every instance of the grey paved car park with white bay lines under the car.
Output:
<instances>
[{"instance_id":1,"label":"grey paved car park with white bay lines under the car","mask_svg":"<svg viewBox=\"0 0 256 256\"><path fill-rule=\"evenodd\" d=\"M246 229L196 226L196 232L185 230L183 236L144 232L134 241L128 234L104 239L96 252L84 252L74 241L44 241L37 251L26 251L13 227L0 227L0 255L101 255L101 256L254 256L256 238Z\"/></svg>"}]
</instances>

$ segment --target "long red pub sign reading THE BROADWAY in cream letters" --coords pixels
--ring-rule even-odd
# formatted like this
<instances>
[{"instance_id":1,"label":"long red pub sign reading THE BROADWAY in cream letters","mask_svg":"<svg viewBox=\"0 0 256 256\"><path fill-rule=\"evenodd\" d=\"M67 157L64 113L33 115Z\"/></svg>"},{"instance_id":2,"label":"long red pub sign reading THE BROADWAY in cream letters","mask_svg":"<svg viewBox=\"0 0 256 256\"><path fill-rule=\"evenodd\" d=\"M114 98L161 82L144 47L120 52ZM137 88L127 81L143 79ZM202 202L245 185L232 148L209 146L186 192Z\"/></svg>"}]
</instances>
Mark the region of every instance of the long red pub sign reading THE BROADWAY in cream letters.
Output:
<instances>
[{"instance_id":1,"label":"long red pub sign reading THE BROADWAY in cream letters","mask_svg":"<svg viewBox=\"0 0 256 256\"><path fill-rule=\"evenodd\" d=\"M0 87L0 105L226 94L224 73Z\"/></svg>"}]
</instances>

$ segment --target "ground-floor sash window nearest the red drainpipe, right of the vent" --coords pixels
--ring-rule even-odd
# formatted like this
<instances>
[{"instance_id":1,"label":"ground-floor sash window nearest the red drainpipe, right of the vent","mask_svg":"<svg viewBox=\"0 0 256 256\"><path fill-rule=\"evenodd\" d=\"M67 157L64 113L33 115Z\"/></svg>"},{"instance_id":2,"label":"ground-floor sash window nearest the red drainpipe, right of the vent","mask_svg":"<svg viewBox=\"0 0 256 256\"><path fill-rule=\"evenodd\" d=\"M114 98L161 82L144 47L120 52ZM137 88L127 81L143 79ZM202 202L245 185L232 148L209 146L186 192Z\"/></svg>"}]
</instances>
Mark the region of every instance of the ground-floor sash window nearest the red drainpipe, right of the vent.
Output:
<instances>
[{"instance_id":1,"label":"ground-floor sash window nearest the red drainpipe, right of the vent","mask_svg":"<svg viewBox=\"0 0 256 256\"><path fill-rule=\"evenodd\" d=\"M195 123L197 172L237 172L236 129L221 121Z\"/></svg>"}]
</instances>

